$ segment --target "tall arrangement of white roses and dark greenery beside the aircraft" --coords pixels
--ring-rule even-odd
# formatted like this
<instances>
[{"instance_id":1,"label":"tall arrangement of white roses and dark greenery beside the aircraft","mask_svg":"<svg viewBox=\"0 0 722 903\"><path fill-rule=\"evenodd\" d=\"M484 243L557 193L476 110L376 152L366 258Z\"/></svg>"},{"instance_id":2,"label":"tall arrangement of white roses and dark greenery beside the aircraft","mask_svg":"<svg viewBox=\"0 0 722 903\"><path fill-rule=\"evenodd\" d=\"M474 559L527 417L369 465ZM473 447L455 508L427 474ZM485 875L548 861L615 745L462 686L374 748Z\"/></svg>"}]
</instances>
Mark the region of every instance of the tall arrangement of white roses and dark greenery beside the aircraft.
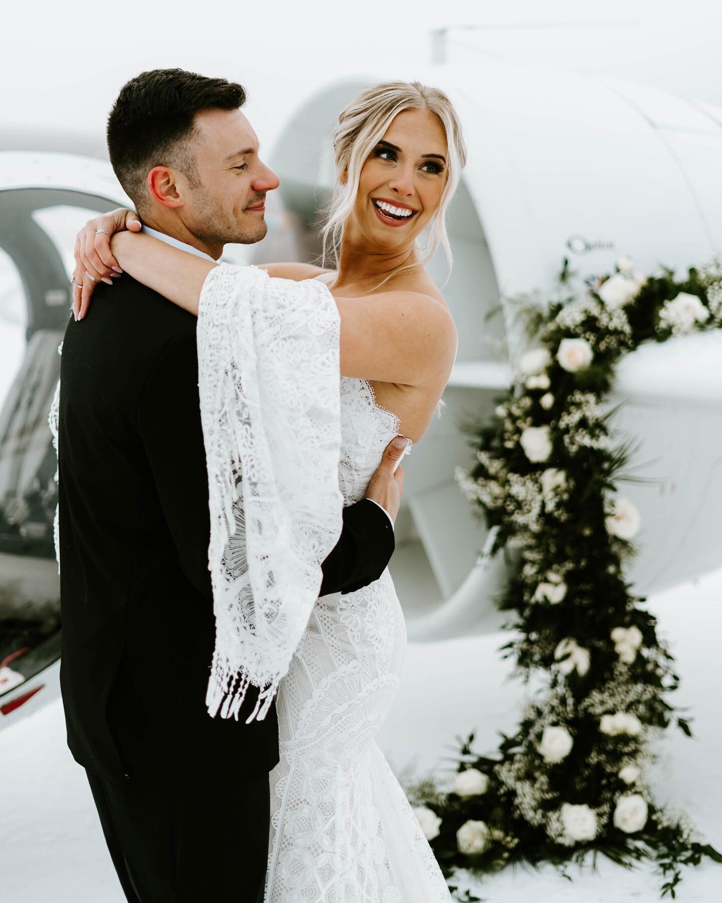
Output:
<instances>
[{"instance_id":1,"label":"tall arrangement of white roses and dark greenery beside the aircraft","mask_svg":"<svg viewBox=\"0 0 722 903\"><path fill-rule=\"evenodd\" d=\"M565 260L562 294L569 282ZM447 877L520 860L581 864L594 851L657 861L673 898L683 865L722 857L686 816L654 805L646 783L655 736L672 721L691 731L667 699L679 682L671 654L625 583L641 517L617 494L631 445L616 447L602 402L626 352L722 326L722 258L676 282L623 257L584 286L537 308L534 347L475 435L476 466L457 473L495 530L492 551L519 549L500 603L516 638L503 650L525 679L545 675L544 689L494 756L471 749L473 733L458 738L450 790L425 779L407 792Z\"/></svg>"}]
</instances>

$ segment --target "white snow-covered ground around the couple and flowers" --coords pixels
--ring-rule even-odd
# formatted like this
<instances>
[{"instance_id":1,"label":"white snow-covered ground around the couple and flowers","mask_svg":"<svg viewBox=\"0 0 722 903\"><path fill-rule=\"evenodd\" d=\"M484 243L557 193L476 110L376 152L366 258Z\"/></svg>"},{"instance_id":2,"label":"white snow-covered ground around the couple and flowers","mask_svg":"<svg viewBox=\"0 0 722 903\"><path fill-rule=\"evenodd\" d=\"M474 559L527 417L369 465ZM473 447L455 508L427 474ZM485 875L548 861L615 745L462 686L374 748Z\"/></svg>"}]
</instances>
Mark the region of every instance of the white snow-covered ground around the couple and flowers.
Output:
<instances>
[{"instance_id":1,"label":"white snow-covered ground around the couple and flowers","mask_svg":"<svg viewBox=\"0 0 722 903\"><path fill-rule=\"evenodd\" d=\"M722 849L722 572L650 600L662 636L677 656L695 739L670 731L655 774L659 800L686 809ZM500 634L410 646L404 679L379 736L398 773L425 772L451 753L455 735L477 731L476 749L495 748L514 728L522 698L496 649ZM450 746L449 746L450 745ZM444 765L444 763L441 763ZM449 767L449 763L446 763ZM600 860L597 873L507 870L476 886L488 903L652 903L659 880L649 867L626 871ZM0 898L3 903L124 903L106 852L84 772L65 745L60 700L0 733ZM722 897L722 867L705 862L686 873L684 903ZM413 901L408 901L413 903Z\"/></svg>"}]
</instances>

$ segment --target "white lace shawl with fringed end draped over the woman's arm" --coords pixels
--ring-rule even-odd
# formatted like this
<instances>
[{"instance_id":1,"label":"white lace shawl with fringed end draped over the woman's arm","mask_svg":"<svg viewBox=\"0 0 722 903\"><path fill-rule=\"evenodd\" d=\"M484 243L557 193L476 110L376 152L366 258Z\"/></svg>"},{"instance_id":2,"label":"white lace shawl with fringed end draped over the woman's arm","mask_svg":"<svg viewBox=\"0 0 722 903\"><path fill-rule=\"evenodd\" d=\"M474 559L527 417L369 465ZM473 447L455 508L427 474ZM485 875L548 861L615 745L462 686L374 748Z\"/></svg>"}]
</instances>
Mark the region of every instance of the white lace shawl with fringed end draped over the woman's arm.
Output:
<instances>
[{"instance_id":1,"label":"white lace shawl with fringed end draped over the woman's arm","mask_svg":"<svg viewBox=\"0 0 722 903\"><path fill-rule=\"evenodd\" d=\"M338 309L318 280L221 264L199 300L216 648L206 703L264 719L308 625L343 497ZM60 349L59 349L60 350ZM57 450L60 383L50 422ZM56 512L56 554L59 551Z\"/></svg>"}]
</instances>

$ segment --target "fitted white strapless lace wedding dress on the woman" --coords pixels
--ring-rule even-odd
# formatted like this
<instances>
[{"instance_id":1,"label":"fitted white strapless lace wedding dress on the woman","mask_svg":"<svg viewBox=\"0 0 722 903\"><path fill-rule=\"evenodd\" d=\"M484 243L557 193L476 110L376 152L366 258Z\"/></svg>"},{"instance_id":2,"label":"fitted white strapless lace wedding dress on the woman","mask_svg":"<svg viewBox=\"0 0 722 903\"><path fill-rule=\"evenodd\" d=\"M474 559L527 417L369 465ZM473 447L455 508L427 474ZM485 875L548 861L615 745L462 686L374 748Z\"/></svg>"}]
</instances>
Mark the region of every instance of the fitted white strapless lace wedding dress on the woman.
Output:
<instances>
[{"instance_id":1,"label":"fitted white strapless lace wedding dress on the woman","mask_svg":"<svg viewBox=\"0 0 722 903\"><path fill-rule=\"evenodd\" d=\"M340 485L366 494L394 414L366 380L341 378ZM270 775L264 903L449 903L451 895L375 735L399 683L403 612L388 570L323 596L282 679L281 760Z\"/></svg>"}]
</instances>

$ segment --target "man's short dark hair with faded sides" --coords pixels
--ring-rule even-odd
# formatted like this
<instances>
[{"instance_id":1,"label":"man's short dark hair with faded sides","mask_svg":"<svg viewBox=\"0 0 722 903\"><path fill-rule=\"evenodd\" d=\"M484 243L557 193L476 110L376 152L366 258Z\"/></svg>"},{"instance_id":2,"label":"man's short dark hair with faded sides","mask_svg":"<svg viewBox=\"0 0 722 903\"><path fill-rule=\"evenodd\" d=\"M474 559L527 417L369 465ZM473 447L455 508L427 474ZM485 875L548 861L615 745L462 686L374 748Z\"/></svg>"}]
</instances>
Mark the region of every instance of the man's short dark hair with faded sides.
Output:
<instances>
[{"instance_id":1,"label":"man's short dark hair with faded sides","mask_svg":"<svg viewBox=\"0 0 722 903\"><path fill-rule=\"evenodd\" d=\"M197 185L196 114L244 104L242 85L182 69L153 69L125 82L107 117L107 149L138 213L148 200L145 180L153 166L172 166Z\"/></svg>"}]
</instances>

